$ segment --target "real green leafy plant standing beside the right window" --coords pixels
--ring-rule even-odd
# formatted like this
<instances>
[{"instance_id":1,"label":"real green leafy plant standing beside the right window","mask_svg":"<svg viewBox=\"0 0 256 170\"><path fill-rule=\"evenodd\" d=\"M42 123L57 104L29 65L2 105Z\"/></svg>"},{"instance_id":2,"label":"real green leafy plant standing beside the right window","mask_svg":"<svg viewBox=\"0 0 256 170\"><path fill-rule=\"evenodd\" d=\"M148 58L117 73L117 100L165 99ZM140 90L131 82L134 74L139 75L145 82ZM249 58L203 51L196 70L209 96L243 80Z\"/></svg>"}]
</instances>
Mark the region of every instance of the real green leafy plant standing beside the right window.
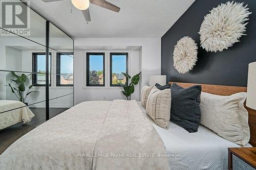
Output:
<instances>
[{"instance_id":1,"label":"real green leafy plant standing beside the right window","mask_svg":"<svg viewBox=\"0 0 256 170\"><path fill-rule=\"evenodd\" d=\"M140 81L141 71L139 74L135 75L133 78L124 72L122 72L122 74L126 77L127 84L121 84L121 83L118 83L118 84L122 86L123 88L122 93L123 95L125 95L126 99L131 100L131 95L132 93L134 93L134 90L135 90L134 86L137 85ZM131 82L130 82L130 79L132 79Z\"/></svg>"}]
</instances>

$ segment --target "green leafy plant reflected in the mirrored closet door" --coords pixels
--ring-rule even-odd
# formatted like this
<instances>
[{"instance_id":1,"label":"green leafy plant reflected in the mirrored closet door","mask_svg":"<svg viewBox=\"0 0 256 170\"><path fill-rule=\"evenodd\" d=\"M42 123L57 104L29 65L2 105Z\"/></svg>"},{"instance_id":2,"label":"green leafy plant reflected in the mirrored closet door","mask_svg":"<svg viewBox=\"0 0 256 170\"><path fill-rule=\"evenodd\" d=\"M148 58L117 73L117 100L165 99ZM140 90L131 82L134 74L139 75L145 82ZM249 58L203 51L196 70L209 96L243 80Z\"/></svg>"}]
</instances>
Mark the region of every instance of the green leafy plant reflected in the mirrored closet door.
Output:
<instances>
[{"instance_id":1,"label":"green leafy plant reflected in the mirrored closet door","mask_svg":"<svg viewBox=\"0 0 256 170\"><path fill-rule=\"evenodd\" d=\"M22 74L21 76L18 76L15 74L14 71L12 71L12 75L16 78L16 80L14 79L11 79L11 81L15 82L16 83L16 87L13 87L10 83L6 86L9 86L12 93L15 94L15 96L17 97L17 99L20 101L20 102L23 102L24 104L26 104L28 106L28 103L26 103L26 99L28 97L28 95L32 92L37 92L37 91L30 91L30 89L36 84L32 84L29 86L29 89L27 90L27 93L24 95L24 92L26 90L26 86L25 86L25 82L28 78L28 76L32 75L28 75L26 76L25 74Z\"/></svg>"}]
</instances>

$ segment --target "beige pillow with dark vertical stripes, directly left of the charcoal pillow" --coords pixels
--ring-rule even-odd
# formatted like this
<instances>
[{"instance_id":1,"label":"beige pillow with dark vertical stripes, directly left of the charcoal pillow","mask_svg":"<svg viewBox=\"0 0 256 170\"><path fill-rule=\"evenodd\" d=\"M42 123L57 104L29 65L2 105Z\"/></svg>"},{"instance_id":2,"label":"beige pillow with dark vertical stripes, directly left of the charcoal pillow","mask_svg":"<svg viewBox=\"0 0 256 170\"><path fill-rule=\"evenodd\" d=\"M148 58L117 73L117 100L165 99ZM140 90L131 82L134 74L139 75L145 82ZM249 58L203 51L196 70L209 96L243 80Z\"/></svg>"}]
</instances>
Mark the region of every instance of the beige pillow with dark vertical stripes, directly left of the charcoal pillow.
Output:
<instances>
[{"instance_id":1,"label":"beige pillow with dark vertical stripes, directly left of the charcoal pillow","mask_svg":"<svg viewBox=\"0 0 256 170\"><path fill-rule=\"evenodd\" d=\"M161 128L169 128L170 120L170 89L159 90L153 87L148 95L146 113Z\"/></svg>"}]
</instances>

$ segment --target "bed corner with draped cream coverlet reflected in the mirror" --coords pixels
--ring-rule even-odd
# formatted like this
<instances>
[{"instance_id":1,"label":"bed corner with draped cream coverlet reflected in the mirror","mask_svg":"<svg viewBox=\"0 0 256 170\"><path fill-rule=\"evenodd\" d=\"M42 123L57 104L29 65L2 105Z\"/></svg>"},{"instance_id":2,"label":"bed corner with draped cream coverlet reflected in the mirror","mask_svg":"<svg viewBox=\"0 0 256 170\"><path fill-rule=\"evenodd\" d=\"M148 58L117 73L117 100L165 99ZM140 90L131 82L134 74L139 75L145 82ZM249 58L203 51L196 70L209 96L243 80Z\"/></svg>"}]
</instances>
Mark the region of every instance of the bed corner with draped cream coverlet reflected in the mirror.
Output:
<instances>
[{"instance_id":1,"label":"bed corner with draped cream coverlet reflected in the mirror","mask_svg":"<svg viewBox=\"0 0 256 170\"><path fill-rule=\"evenodd\" d=\"M0 130L18 123L28 123L35 115L22 102L0 101Z\"/></svg>"}]
</instances>

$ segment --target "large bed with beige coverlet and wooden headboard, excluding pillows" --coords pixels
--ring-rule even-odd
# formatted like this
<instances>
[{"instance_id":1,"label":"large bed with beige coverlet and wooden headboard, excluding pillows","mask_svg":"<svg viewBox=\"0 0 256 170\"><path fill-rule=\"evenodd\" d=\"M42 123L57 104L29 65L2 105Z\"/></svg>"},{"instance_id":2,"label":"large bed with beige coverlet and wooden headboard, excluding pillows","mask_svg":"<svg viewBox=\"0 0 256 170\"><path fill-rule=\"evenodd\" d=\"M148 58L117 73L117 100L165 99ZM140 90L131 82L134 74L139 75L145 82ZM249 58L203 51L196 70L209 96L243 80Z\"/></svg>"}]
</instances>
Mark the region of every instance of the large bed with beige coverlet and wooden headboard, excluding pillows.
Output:
<instances>
[{"instance_id":1,"label":"large bed with beige coverlet and wooden headboard, excluding pillows","mask_svg":"<svg viewBox=\"0 0 256 170\"><path fill-rule=\"evenodd\" d=\"M202 91L230 95L246 88L202 85ZM248 112L249 124L254 124L256 114ZM255 145L253 126L250 143ZM196 133L172 122L168 130L158 127L140 102L91 101L19 138L0 155L0 169L227 169L228 147L240 146L203 126ZM160 156L136 157L139 153Z\"/></svg>"}]
</instances>

